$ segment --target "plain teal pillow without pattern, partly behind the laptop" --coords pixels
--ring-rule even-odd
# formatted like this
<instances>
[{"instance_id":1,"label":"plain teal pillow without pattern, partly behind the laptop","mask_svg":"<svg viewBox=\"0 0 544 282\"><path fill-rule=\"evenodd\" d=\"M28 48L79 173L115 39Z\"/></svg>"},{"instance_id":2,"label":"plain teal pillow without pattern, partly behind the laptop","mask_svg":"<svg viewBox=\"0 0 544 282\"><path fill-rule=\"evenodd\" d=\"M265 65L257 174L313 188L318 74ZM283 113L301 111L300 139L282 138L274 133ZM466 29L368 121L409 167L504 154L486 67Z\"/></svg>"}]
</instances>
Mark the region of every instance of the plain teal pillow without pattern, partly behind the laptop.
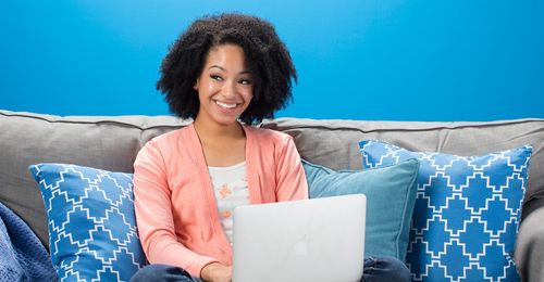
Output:
<instances>
[{"instance_id":1,"label":"plain teal pillow without pattern, partly behind the laptop","mask_svg":"<svg viewBox=\"0 0 544 282\"><path fill-rule=\"evenodd\" d=\"M366 256L406 257L419 162L408 159L370 170L339 170L302 161L310 198L367 196ZM395 196L392 196L395 195Z\"/></svg>"}]
</instances>

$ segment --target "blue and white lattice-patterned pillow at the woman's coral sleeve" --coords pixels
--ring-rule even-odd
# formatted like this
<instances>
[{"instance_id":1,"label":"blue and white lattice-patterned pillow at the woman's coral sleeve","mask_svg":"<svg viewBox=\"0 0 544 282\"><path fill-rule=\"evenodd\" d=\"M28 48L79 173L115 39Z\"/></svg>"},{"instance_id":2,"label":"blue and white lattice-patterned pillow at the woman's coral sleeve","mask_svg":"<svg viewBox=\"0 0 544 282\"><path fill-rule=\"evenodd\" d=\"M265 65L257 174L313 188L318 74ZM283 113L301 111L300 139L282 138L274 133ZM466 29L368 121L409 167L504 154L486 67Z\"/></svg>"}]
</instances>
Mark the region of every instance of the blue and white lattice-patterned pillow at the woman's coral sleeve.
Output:
<instances>
[{"instance_id":1,"label":"blue and white lattice-patterned pillow at the woman's coral sleeve","mask_svg":"<svg viewBox=\"0 0 544 282\"><path fill-rule=\"evenodd\" d=\"M134 215L132 175L63 164L29 167L46 206L61 281L128 281L146 257Z\"/></svg>"}]
</instances>

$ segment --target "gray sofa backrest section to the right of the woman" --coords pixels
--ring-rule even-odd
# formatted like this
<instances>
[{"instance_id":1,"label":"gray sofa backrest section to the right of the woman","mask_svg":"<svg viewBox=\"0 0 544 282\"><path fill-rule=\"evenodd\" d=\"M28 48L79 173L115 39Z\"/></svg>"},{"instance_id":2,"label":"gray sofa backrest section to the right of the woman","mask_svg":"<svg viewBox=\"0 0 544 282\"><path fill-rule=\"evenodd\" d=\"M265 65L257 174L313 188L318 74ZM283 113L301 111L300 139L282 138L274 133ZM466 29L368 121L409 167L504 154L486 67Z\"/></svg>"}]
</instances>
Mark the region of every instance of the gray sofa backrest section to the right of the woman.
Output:
<instances>
[{"instance_id":1,"label":"gray sofa backrest section to the right of the woman","mask_svg":"<svg viewBox=\"0 0 544 282\"><path fill-rule=\"evenodd\" d=\"M544 119L497 121L368 121L277 118L263 127L295 138L302 158L334 169L361 169L358 142L376 139L416 152L472 156L533 146L523 218L544 206Z\"/></svg>"}]
</instances>

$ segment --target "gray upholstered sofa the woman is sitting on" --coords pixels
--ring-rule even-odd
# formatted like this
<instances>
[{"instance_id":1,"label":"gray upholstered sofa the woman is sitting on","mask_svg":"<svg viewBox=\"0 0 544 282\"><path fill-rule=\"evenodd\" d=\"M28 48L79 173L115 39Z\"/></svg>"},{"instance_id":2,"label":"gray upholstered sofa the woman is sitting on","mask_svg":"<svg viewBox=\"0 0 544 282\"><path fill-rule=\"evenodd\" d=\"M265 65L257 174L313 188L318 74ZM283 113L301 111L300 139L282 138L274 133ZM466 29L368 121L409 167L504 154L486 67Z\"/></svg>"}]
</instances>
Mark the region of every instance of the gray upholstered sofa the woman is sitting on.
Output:
<instances>
[{"instance_id":1,"label":"gray upholstered sofa the woman is sitting on","mask_svg":"<svg viewBox=\"0 0 544 282\"><path fill-rule=\"evenodd\" d=\"M39 189L28 166L71 163L133 171L151 138L186 125L169 116L52 116L0 111L0 202L48 246ZM361 169L358 141L378 139L412 151L478 155L533 145L516 262L524 281L544 281L544 119L418 123L279 118L263 127L294 137L300 155L333 169Z\"/></svg>"}]
</instances>

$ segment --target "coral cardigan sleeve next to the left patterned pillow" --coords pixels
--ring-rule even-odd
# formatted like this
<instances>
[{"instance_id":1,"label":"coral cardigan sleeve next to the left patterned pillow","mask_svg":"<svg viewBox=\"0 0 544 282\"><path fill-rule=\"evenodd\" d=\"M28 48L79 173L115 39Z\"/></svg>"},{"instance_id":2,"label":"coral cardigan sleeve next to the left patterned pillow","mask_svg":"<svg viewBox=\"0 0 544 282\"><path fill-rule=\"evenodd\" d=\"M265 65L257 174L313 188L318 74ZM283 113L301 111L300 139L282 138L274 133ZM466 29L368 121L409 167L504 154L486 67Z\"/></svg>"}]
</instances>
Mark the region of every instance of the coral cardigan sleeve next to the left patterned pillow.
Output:
<instances>
[{"instance_id":1,"label":"coral cardigan sleeve next to the left patterned pillow","mask_svg":"<svg viewBox=\"0 0 544 282\"><path fill-rule=\"evenodd\" d=\"M150 264L177 266L194 277L218 261L176 239L166 165L158 144L146 144L134 163L134 207L141 246Z\"/></svg>"}]
</instances>

